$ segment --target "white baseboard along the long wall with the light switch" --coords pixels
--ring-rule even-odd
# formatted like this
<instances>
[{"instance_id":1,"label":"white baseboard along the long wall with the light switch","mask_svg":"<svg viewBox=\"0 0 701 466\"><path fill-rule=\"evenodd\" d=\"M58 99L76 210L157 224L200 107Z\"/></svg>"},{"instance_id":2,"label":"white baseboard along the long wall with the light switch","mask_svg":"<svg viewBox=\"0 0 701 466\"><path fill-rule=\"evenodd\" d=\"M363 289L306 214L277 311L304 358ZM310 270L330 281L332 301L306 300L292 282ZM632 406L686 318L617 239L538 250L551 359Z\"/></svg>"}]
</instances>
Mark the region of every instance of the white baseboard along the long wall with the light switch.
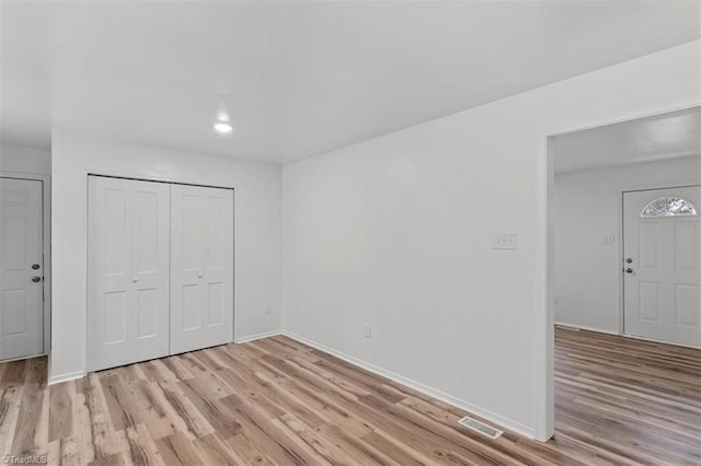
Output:
<instances>
[{"instance_id":1,"label":"white baseboard along the long wall with the light switch","mask_svg":"<svg viewBox=\"0 0 701 466\"><path fill-rule=\"evenodd\" d=\"M341 351L336 351L332 348L329 348L324 345L318 343L315 341L309 340L302 336L299 336L297 334L294 334L291 331L287 331L287 330L283 330L281 331L283 335L285 335L286 337L289 337L294 340L297 340L301 343L304 343L307 346L310 346L312 348L315 348L320 351L323 351L325 353L329 353L331 356L335 356L338 359L342 359L346 362L349 362L350 364L357 365L358 368L363 368L366 371L372 372L375 374L381 375L386 378L389 378L391 381L394 381L399 384L405 385L410 388L413 388L417 392L423 393L424 395L428 395L432 396L436 399L439 399L444 403L447 403L449 405L455 406L456 408L469 411L475 416L479 416L481 418L484 418L499 427L506 428L513 432L519 433L524 436L527 436L528 439L535 440L536 439L536 431L533 428L529 427L529 426L525 426L520 422L517 422L513 419L508 419L504 416L497 415L496 412L492 412L487 409L481 408L476 405L473 405L469 401L466 401L463 399L460 398L456 398L452 395L448 395L447 393L444 393L437 388L430 387L428 385L424 385L421 382L416 382L413 381L411 378L407 378L403 375L397 374L394 372L388 371L386 369L379 368L375 364L370 364L368 362L365 362L360 359L354 358L352 356L348 354L344 354Z\"/></svg>"}]
</instances>

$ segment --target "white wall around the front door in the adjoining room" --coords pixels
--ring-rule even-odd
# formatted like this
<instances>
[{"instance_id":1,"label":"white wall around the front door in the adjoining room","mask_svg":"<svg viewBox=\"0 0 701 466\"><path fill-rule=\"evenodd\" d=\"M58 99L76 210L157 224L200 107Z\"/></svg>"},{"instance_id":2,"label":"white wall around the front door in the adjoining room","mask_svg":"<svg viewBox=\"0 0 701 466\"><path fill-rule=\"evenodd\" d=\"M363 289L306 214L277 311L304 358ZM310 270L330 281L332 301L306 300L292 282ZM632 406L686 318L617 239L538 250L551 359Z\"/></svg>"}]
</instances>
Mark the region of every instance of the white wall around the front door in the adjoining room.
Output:
<instances>
[{"instance_id":1,"label":"white wall around the front door in the adjoining room","mask_svg":"<svg viewBox=\"0 0 701 466\"><path fill-rule=\"evenodd\" d=\"M701 183L701 158L555 175L556 323L622 331L622 191L690 183Z\"/></svg>"}]
</instances>

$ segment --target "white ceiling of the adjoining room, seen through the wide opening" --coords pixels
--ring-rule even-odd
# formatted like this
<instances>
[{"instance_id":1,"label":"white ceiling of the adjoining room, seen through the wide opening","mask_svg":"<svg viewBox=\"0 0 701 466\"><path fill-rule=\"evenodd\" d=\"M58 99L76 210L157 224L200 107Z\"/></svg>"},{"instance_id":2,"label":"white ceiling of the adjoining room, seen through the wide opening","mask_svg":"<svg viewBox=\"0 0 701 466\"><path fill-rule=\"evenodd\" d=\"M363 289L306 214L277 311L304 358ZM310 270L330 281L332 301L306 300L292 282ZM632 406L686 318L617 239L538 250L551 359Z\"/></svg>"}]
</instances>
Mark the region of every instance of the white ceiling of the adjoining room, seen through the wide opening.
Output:
<instances>
[{"instance_id":1,"label":"white ceiling of the adjoining room, seen through the wide opening","mask_svg":"<svg viewBox=\"0 0 701 466\"><path fill-rule=\"evenodd\" d=\"M701 155L701 107L552 138L555 172Z\"/></svg>"}]
</instances>

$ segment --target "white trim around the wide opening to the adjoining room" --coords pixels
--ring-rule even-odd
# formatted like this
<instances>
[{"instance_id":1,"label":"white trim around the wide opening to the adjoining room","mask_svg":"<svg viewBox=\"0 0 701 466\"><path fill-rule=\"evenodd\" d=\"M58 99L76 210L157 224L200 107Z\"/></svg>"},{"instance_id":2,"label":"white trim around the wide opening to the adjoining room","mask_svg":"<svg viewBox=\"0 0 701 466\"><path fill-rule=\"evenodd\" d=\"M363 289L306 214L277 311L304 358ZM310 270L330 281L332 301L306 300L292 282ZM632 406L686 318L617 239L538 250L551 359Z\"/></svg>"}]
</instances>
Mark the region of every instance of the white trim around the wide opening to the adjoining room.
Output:
<instances>
[{"instance_id":1,"label":"white trim around the wide opening to the adjoining room","mask_svg":"<svg viewBox=\"0 0 701 466\"><path fill-rule=\"evenodd\" d=\"M554 152L551 138L669 112L701 107L701 92L680 98L609 114L579 125L544 127L538 138L536 163L533 264L533 436L547 442L555 433L554 394Z\"/></svg>"}]
</instances>

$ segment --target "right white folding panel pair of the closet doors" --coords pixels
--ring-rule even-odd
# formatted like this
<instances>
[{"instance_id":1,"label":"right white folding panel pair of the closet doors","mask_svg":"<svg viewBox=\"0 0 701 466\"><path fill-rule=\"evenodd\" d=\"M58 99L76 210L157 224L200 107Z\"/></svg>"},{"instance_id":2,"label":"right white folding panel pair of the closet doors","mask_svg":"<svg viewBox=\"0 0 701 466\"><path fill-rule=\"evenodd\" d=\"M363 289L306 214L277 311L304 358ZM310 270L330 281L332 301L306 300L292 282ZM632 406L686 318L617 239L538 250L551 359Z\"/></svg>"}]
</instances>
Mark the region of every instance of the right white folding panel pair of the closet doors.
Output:
<instances>
[{"instance_id":1,"label":"right white folding panel pair of the closet doors","mask_svg":"<svg viewBox=\"0 0 701 466\"><path fill-rule=\"evenodd\" d=\"M171 353L233 340L233 191L171 187Z\"/></svg>"}]
</instances>

